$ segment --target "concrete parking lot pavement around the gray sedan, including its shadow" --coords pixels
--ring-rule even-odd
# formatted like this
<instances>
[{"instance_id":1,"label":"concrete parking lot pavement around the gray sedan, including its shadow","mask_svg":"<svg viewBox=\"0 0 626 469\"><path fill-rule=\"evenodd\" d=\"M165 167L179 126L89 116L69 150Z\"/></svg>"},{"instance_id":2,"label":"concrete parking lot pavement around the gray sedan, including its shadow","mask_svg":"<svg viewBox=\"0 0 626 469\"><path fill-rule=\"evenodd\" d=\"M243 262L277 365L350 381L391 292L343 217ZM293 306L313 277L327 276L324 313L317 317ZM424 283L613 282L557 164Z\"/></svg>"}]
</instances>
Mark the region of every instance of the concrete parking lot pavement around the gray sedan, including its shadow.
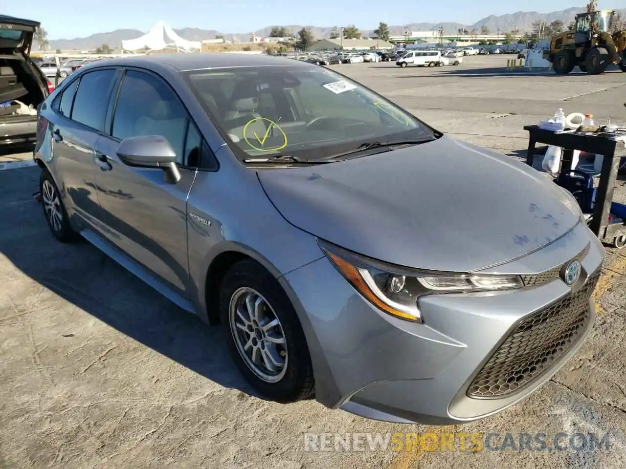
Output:
<instances>
[{"instance_id":1,"label":"concrete parking lot pavement around the gray sedan, including its shadow","mask_svg":"<svg viewBox=\"0 0 626 469\"><path fill-rule=\"evenodd\" d=\"M331 66L455 138L525 156L526 124L565 114L626 124L626 74L460 66ZM398 425L254 395L203 325L87 243L53 240L28 148L0 153L0 468L617 468L626 466L626 248L607 248L587 343L541 390L491 418ZM0 150L1 151L1 150ZM390 184L392 181L390 181ZM618 180L616 199L626 202ZM515 216L515 214L511 214ZM452 221L451 221L452 222ZM462 243L463 240L459 240ZM415 396L419 399L419 396ZM310 451L305 433L610 435L591 451Z\"/></svg>"}]
</instances>

